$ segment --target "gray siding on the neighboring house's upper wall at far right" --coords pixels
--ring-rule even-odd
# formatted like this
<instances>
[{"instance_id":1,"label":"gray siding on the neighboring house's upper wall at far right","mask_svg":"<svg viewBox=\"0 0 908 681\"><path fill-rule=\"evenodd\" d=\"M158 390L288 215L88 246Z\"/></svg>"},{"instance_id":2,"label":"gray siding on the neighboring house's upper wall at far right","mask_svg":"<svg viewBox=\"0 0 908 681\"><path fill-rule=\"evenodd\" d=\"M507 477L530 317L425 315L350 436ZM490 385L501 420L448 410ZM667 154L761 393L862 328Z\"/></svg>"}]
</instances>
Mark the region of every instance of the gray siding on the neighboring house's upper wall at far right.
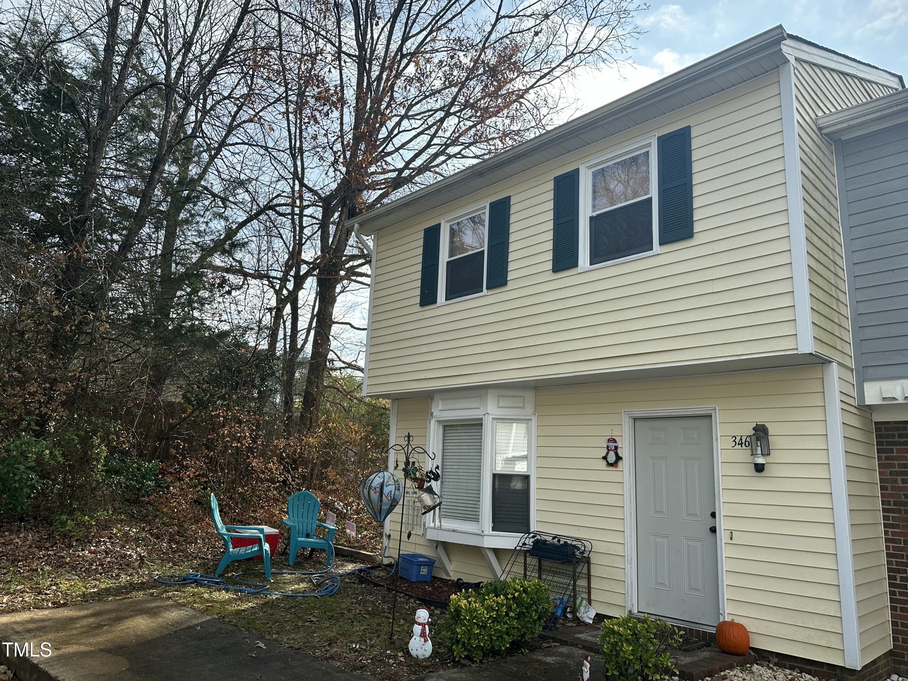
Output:
<instances>
[{"instance_id":1,"label":"gray siding on the neighboring house's upper wall at far right","mask_svg":"<svg viewBox=\"0 0 908 681\"><path fill-rule=\"evenodd\" d=\"M842 142L863 380L908 377L908 123Z\"/></svg>"}]
</instances>

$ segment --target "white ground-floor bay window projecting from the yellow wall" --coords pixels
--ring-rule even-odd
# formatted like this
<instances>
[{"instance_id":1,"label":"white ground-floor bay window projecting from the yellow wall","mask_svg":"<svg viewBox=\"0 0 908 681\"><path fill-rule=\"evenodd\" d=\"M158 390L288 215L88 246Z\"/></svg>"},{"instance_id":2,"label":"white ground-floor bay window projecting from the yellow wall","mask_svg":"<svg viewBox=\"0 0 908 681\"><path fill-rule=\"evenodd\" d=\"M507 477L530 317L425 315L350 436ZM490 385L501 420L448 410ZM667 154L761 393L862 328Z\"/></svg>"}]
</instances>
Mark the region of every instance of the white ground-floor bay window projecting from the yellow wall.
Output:
<instances>
[{"instance_id":1,"label":"white ground-floor bay window projecting from the yellow wall","mask_svg":"<svg viewBox=\"0 0 908 681\"><path fill-rule=\"evenodd\" d=\"M429 446L442 503L429 538L506 547L536 528L532 400L531 390L433 400Z\"/></svg>"}]
</instances>

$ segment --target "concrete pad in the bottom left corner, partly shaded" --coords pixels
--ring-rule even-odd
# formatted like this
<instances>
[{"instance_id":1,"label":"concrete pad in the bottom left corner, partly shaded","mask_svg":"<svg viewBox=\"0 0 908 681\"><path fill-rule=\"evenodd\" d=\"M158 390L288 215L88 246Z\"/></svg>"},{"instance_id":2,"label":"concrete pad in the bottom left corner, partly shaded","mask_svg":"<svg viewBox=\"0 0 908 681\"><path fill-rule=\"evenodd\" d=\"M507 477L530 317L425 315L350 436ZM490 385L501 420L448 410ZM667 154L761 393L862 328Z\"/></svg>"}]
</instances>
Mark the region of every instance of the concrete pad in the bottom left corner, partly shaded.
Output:
<instances>
[{"instance_id":1,"label":"concrete pad in the bottom left corner, partly shaded","mask_svg":"<svg viewBox=\"0 0 908 681\"><path fill-rule=\"evenodd\" d=\"M0 642L34 645L30 658L0 646L18 681L363 680L156 597L0 615ZM41 657L44 642L52 652Z\"/></svg>"}]
</instances>

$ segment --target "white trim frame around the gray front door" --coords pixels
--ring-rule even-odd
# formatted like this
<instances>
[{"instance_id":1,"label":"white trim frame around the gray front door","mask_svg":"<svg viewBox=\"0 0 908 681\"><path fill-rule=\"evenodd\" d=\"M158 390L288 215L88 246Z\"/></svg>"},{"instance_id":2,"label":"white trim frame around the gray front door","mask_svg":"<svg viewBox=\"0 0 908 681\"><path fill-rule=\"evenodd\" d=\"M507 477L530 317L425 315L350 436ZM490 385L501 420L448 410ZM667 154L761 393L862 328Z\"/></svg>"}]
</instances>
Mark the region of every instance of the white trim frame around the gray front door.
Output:
<instances>
[{"instance_id":1,"label":"white trim frame around the gray front door","mask_svg":"<svg viewBox=\"0 0 908 681\"><path fill-rule=\"evenodd\" d=\"M634 472L634 419L646 417L708 416L713 420L713 461L716 482L716 538L719 561L719 619L728 617L725 595L725 524L722 518L722 449L719 446L719 408L681 407L677 409L623 410L621 412L621 447L624 451L625 503L625 607L637 612L637 479ZM693 623L688 623L693 624ZM698 625L699 626L699 625Z\"/></svg>"}]
</instances>

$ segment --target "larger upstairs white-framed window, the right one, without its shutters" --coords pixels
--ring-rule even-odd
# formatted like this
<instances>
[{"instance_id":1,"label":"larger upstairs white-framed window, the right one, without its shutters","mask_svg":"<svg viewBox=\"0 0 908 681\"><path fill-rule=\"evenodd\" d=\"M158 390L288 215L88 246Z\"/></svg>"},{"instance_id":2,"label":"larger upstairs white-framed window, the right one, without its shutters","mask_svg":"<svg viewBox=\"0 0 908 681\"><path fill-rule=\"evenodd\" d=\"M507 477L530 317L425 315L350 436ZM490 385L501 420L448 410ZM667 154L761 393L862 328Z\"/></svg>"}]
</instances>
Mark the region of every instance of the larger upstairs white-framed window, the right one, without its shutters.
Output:
<instances>
[{"instance_id":1,"label":"larger upstairs white-framed window, the right one, without its shutters","mask_svg":"<svg viewBox=\"0 0 908 681\"><path fill-rule=\"evenodd\" d=\"M659 252L656 137L580 165L580 270Z\"/></svg>"}]
</instances>

